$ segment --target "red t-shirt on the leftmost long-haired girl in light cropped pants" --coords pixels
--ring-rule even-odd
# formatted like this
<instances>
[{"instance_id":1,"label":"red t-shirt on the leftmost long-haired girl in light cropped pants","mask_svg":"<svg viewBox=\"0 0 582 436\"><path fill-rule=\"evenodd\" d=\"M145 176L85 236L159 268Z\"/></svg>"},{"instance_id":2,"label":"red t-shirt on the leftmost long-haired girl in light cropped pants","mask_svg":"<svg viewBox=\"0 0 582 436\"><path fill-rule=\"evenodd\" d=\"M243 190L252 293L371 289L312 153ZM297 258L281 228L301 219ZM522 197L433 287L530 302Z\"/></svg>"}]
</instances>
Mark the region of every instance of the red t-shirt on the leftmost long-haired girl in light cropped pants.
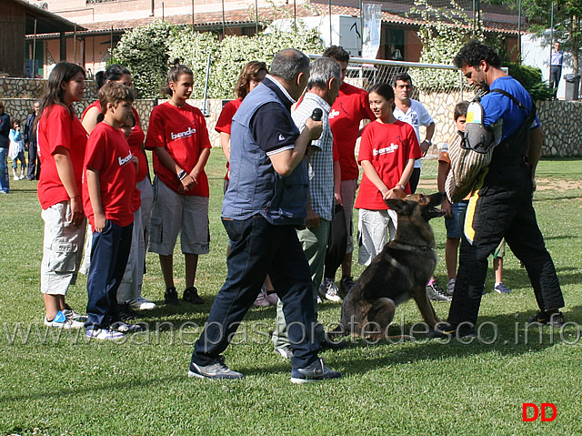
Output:
<instances>
[{"instance_id":1,"label":"red t-shirt on the leftmost long-haired girl in light cropped pants","mask_svg":"<svg viewBox=\"0 0 582 436\"><path fill-rule=\"evenodd\" d=\"M38 199L42 208L50 208L69 199L61 177L56 171L54 157L56 147L65 147L69 151L76 186L81 193L87 137L87 132L79 119L71 117L65 106L53 105L43 112L38 122L38 156L43 167L38 181Z\"/></svg>"}]
</instances>

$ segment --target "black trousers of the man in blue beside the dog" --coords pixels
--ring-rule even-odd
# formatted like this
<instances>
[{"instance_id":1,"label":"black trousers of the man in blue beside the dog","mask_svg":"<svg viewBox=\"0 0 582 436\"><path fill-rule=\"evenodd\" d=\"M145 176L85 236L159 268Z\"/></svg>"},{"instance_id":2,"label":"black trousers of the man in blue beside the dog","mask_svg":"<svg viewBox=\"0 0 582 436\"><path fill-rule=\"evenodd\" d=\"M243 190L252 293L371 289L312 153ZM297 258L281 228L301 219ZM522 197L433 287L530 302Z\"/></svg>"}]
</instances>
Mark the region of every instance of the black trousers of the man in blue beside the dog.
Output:
<instances>
[{"instance_id":1,"label":"black trousers of the man in blue beside the dog","mask_svg":"<svg viewBox=\"0 0 582 436\"><path fill-rule=\"evenodd\" d=\"M477 323L487 258L504 237L527 269L539 309L564 307L554 262L537 226L531 191L525 164L489 168L482 188L469 201L465 231L473 240L471 243L463 238L461 242L455 293L448 313L451 325Z\"/></svg>"}]
</instances>

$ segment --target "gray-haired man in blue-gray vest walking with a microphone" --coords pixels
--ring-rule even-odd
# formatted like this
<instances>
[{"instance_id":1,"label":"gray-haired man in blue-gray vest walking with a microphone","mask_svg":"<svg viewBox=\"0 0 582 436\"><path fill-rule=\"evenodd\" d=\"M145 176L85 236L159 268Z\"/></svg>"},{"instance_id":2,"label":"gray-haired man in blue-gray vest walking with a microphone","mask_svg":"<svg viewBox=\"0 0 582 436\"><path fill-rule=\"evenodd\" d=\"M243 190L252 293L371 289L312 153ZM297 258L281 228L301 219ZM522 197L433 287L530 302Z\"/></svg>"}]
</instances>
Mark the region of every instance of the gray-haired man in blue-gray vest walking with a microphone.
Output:
<instances>
[{"instance_id":1,"label":"gray-haired man in blue-gray vest walking with a microphone","mask_svg":"<svg viewBox=\"0 0 582 436\"><path fill-rule=\"evenodd\" d=\"M293 357L291 381L336 379L317 357L311 273L297 238L306 224L306 147L322 132L308 119L300 133L291 106L309 78L309 58L295 49L277 53L271 75L246 96L231 127L230 185L222 220L232 241L226 282L210 309L190 363L189 377L242 379L220 355L226 350L268 274L284 304Z\"/></svg>"}]
</instances>

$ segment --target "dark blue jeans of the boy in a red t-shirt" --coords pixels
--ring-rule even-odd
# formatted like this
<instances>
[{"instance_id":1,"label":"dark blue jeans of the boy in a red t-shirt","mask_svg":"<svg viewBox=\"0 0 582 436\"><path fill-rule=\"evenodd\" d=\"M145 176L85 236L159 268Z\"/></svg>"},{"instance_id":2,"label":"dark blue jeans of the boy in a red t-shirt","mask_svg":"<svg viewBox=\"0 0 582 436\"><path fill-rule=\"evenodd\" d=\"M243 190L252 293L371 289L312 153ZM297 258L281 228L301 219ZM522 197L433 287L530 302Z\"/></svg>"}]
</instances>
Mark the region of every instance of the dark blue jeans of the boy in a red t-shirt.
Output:
<instances>
[{"instance_id":1,"label":"dark blue jeans of the boy in a red t-shirt","mask_svg":"<svg viewBox=\"0 0 582 436\"><path fill-rule=\"evenodd\" d=\"M87 329L106 329L117 320L117 289L124 277L134 224L120 227L107 219L93 232L91 267L87 276Z\"/></svg>"}]
</instances>

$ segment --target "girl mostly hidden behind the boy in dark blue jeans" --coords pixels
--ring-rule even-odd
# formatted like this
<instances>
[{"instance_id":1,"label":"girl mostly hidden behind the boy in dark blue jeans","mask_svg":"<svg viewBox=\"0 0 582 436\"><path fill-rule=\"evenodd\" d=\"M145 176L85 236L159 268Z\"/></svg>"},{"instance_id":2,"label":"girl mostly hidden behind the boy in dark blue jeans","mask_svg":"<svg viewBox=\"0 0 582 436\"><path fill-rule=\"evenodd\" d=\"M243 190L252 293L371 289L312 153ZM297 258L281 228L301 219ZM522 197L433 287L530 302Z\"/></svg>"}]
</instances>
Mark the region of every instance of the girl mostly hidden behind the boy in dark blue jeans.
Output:
<instances>
[{"instance_id":1,"label":"girl mostly hidden behind the boy in dark blue jeans","mask_svg":"<svg viewBox=\"0 0 582 436\"><path fill-rule=\"evenodd\" d=\"M97 86L101 87L108 82L117 82L125 86L131 87L131 72L125 68L114 64L109 66L103 74L101 83ZM140 192L141 206L135 211L134 220L134 238L132 242L132 254L127 262L124 279L117 290L117 303L119 304L119 318L126 321L135 318L140 318L141 315L135 310L145 310L156 308L156 303L142 297L142 284L144 281L144 265L146 262L146 245L147 245L147 231L149 229L149 219L152 212L152 202L154 200L154 190L149 178L149 168L147 164L146 149L144 148L144 140L146 135L142 129L141 121L135 110L131 108L134 122L131 127L131 134L127 138L132 155L138 159L137 174L135 177L135 188ZM97 123L103 119L101 113L101 104L99 100L95 101L91 106L87 106L81 122L88 133L91 133ZM137 217L139 215L139 217ZM85 259L81 267L82 273L87 273L89 270L91 241L92 238L85 240Z\"/></svg>"}]
</instances>

